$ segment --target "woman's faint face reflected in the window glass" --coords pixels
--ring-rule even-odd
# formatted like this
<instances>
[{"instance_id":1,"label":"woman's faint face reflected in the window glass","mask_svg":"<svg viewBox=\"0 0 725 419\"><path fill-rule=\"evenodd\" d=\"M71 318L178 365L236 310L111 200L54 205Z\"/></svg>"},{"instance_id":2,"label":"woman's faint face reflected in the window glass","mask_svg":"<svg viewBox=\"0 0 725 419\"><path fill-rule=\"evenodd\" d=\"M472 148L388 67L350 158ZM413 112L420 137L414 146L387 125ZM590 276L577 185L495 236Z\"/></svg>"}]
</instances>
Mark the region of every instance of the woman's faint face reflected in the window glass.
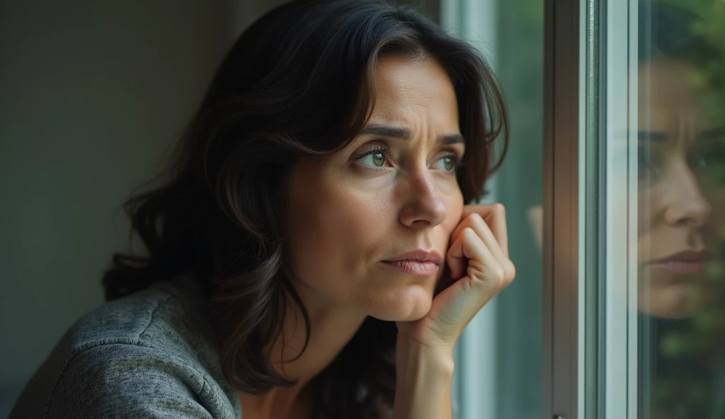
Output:
<instances>
[{"instance_id":1,"label":"woman's faint face reflected in the window glass","mask_svg":"<svg viewBox=\"0 0 725 419\"><path fill-rule=\"evenodd\" d=\"M706 120L691 72L665 60L639 71L639 308L663 318L699 304L725 223L725 130Z\"/></svg>"}]
</instances>

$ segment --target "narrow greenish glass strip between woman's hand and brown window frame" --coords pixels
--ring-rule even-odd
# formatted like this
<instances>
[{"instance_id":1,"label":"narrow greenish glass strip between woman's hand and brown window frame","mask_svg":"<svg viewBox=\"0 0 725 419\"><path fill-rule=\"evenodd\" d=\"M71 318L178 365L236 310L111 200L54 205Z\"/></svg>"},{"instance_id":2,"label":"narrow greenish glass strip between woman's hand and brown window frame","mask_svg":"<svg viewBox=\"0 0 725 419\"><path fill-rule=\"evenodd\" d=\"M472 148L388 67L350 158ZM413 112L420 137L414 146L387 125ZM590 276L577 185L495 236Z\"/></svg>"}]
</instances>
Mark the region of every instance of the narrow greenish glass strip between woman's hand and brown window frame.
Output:
<instances>
[{"instance_id":1,"label":"narrow greenish glass strip between woman's hand and brown window frame","mask_svg":"<svg viewBox=\"0 0 725 419\"><path fill-rule=\"evenodd\" d=\"M515 281L499 298L496 418L541 418L544 1L500 0L496 70L508 101L510 149L497 178Z\"/></svg>"}]
</instances>

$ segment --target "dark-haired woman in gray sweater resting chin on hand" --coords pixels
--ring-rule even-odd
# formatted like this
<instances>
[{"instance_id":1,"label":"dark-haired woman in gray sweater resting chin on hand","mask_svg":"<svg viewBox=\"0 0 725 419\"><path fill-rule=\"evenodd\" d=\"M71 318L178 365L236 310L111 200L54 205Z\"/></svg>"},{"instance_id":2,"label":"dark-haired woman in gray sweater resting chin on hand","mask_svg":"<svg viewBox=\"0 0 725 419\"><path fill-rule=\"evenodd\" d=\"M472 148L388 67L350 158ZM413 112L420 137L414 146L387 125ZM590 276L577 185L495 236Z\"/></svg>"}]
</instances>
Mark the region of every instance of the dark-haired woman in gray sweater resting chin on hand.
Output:
<instances>
[{"instance_id":1,"label":"dark-haired woman in gray sweater resting chin on hand","mask_svg":"<svg viewBox=\"0 0 725 419\"><path fill-rule=\"evenodd\" d=\"M410 9L307 0L225 59L147 255L64 336L11 418L450 418L452 350L514 277L483 194L507 118L490 68Z\"/></svg>"}]
</instances>

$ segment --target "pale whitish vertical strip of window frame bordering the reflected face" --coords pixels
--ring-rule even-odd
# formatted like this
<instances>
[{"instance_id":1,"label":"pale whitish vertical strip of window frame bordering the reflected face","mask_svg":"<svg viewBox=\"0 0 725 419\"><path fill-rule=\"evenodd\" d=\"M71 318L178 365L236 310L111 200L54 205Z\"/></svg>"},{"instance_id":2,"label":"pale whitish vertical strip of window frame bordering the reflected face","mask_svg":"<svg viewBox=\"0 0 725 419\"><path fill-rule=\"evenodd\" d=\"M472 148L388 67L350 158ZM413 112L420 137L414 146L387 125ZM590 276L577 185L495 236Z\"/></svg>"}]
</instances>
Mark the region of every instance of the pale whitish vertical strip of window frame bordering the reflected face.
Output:
<instances>
[{"instance_id":1,"label":"pale whitish vertical strip of window frame bordering the reflected face","mask_svg":"<svg viewBox=\"0 0 725 419\"><path fill-rule=\"evenodd\" d=\"M605 419L637 418L638 0L605 1L600 120L605 130ZM626 157L625 157L626 156ZM624 157L624 158L622 158Z\"/></svg>"}]
</instances>

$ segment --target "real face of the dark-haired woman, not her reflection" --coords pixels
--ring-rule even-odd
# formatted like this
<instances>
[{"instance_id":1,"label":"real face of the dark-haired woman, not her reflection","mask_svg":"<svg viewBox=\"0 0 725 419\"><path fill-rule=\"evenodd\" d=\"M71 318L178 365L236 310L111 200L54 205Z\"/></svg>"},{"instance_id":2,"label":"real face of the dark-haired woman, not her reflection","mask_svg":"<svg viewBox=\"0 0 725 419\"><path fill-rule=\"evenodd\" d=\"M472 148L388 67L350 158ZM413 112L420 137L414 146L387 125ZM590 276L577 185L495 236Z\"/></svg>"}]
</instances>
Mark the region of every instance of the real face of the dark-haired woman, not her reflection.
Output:
<instances>
[{"instance_id":1,"label":"real face of the dark-haired woman, not her reflection","mask_svg":"<svg viewBox=\"0 0 725 419\"><path fill-rule=\"evenodd\" d=\"M292 173L289 266L303 295L381 320L426 315L463 196L455 91L433 59L385 57L363 133ZM408 252L428 252L436 262Z\"/></svg>"}]
</instances>

